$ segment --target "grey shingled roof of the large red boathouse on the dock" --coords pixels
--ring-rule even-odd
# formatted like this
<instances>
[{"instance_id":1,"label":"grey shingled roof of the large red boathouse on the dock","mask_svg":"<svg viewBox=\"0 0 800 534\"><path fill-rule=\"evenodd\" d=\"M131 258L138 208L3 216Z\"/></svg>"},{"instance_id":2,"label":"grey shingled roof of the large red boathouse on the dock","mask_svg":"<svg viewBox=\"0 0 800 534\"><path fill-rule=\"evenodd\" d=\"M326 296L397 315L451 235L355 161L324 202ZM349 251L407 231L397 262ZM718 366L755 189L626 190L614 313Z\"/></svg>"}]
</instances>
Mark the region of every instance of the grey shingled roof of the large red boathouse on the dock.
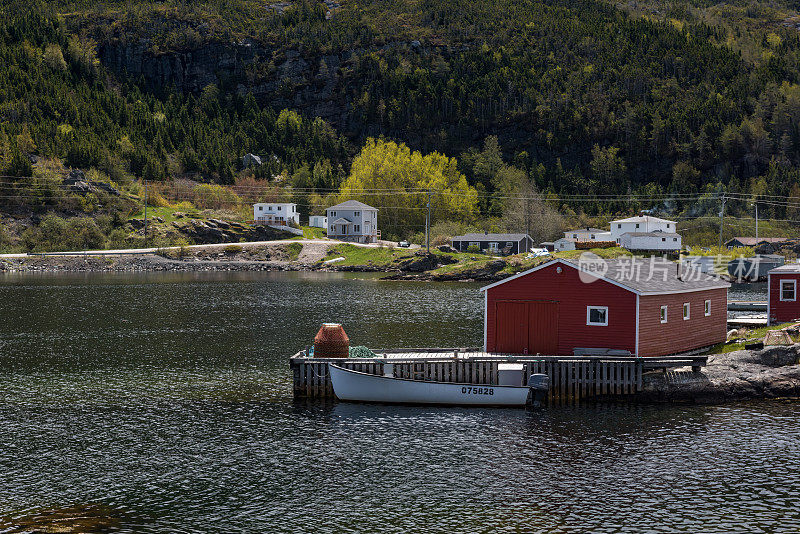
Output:
<instances>
[{"instance_id":1,"label":"grey shingled roof of the large red boathouse on the dock","mask_svg":"<svg viewBox=\"0 0 800 534\"><path fill-rule=\"evenodd\" d=\"M607 267L604 274L593 271L588 276L599 280L605 280L611 284L627 289L637 295L663 295L669 293L689 293L692 291L704 291L707 289L724 289L730 284L715 276L700 273L696 269L691 271L683 270L682 278L678 278L678 264L656 256L650 259L644 258L624 258L616 260L601 260ZM510 276L494 284L481 288L481 291L493 288L500 284L510 282L515 278L525 276L539 269L543 269L554 263L560 263L581 270L578 260L566 260L559 258L543 263L533 269L528 269L514 276ZM599 264L593 263L595 266ZM798 264L800 266L800 264Z\"/></svg>"}]
</instances>

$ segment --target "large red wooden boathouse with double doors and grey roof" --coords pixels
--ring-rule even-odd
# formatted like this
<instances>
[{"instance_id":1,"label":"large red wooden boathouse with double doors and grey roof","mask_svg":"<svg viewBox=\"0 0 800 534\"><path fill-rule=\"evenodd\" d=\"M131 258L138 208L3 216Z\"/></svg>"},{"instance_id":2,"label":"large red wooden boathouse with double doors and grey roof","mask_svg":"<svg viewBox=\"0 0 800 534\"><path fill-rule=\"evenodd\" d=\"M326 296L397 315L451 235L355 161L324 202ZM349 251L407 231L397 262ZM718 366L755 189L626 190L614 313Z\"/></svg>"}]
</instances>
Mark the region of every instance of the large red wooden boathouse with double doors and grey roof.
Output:
<instances>
[{"instance_id":1,"label":"large red wooden boathouse with double doors and grey roof","mask_svg":"<svg viewBox=\"0 0 800 534\"><path fill-rule=\"evenodd\" d=\"M484 350L665 356L715 345L726 337L729 286L662 258L553 260L482 289Z\"/></svg>"}]
</instances>

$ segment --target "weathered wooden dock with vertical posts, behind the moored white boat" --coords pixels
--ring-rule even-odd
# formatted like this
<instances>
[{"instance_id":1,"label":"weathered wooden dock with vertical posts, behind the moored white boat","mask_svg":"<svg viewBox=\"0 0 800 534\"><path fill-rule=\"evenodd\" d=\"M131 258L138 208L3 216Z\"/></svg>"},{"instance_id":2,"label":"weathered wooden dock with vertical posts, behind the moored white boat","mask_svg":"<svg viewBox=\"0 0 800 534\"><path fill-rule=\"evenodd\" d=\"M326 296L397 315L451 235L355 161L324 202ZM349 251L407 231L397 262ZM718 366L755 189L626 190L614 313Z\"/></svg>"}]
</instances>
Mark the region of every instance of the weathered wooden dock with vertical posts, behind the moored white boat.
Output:
<instances>
[{"instance_id":1,"label":"weathered wooden dock with vertical posts, behind the moored white boat","mask_svg":"<svg viewBox=\"0 0 800 534\"><path fill-rule=\"evenodd\" d=\"M522 363L524 376L550 377L549 401L576 402L599 397L624 397L642 390L647 371L692 367L697 372L706 356L638 358L633 356L523 356L490 354L477 349L393 349L374 351L379 358L307 358L298 352L290 361L294 395L334 398L328 363L364 373L383 374L383 364L394 365L394 376L436 382L497 384L498 363Z\"/></svg>"}]
</instances>

